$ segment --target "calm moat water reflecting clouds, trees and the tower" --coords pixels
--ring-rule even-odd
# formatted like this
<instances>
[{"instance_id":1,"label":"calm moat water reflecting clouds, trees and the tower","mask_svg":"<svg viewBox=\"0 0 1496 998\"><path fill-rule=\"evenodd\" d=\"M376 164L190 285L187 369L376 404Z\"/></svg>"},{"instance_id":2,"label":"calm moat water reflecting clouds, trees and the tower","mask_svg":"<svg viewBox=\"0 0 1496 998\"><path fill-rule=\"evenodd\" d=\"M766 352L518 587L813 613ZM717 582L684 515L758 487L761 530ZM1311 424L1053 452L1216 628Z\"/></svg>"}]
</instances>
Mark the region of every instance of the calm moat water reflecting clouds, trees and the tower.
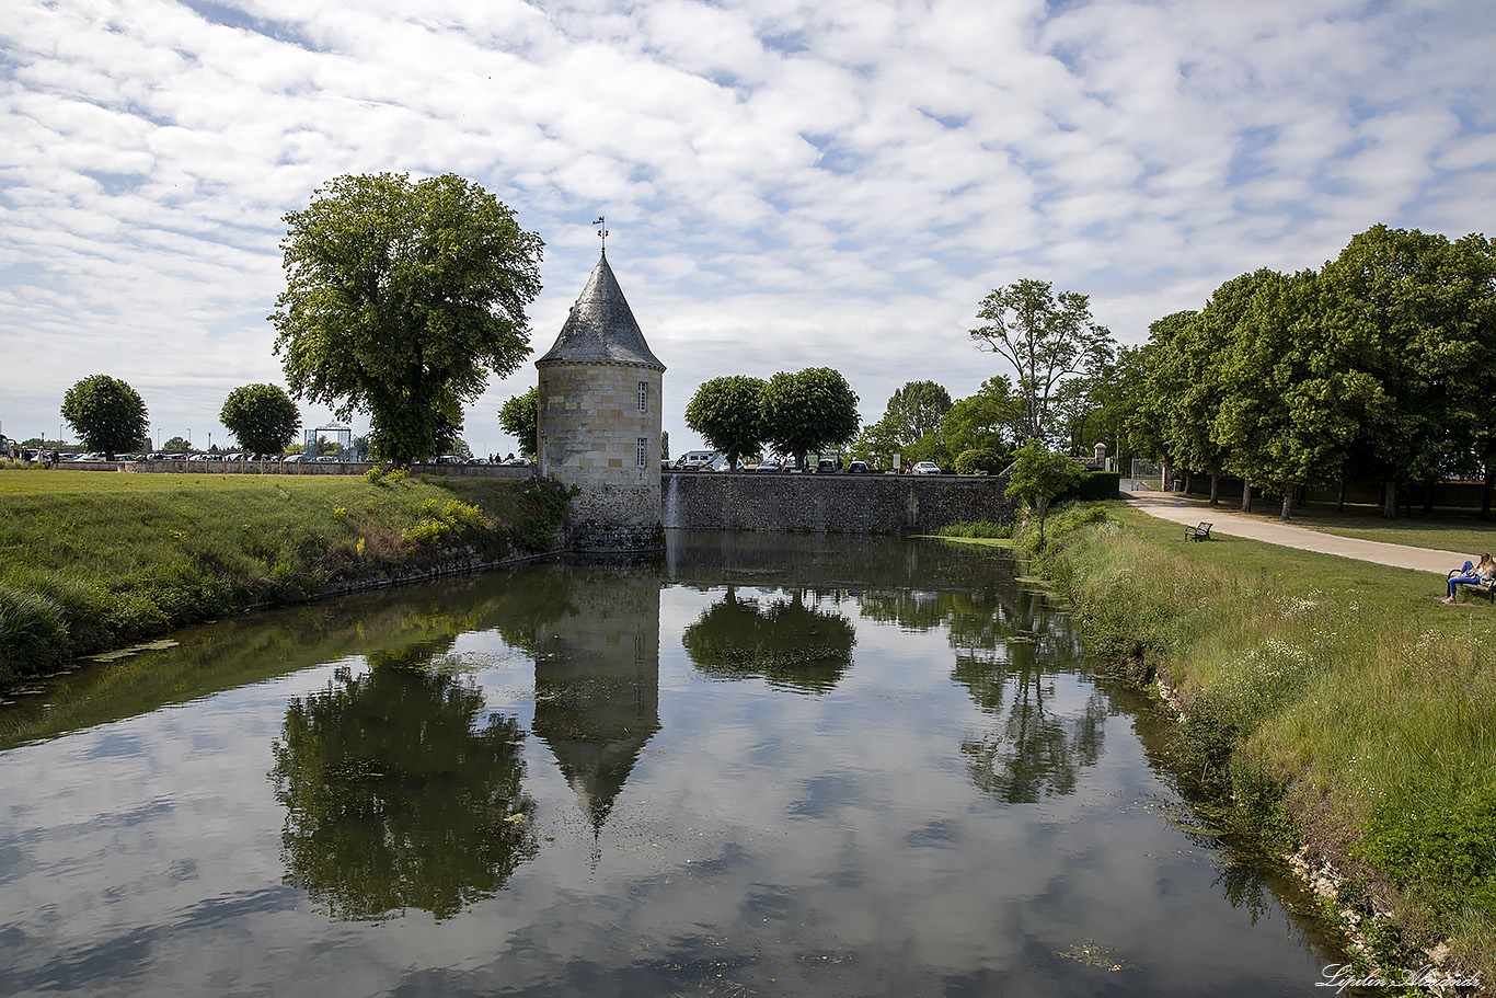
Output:
<instances>
[{"instance_id":1,"label":"calm moat water reflecting clouds, trees and the tower","mask_svg":"<svg viewBox=\"0 0 1496 998\"><path fill-rule=\"evenodd\" d=\"M0 708L4 995L1325 994L1002 552L681 534Z\"/></svg>"}]
</instances>

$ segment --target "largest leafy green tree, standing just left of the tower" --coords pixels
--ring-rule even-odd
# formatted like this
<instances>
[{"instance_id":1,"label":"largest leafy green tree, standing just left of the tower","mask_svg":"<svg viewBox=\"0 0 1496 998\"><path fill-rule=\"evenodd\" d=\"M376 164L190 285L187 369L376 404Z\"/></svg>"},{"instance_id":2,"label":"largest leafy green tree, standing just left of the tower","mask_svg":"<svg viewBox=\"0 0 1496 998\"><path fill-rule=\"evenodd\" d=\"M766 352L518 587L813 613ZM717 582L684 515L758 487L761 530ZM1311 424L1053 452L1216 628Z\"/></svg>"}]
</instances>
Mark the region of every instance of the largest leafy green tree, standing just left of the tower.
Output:
<instances>
[{"instance_id":1,"label":"largest leafy green tree, standing just left of the tower","mask_svg":"<svg viewBox=\"0 0 1496 998\"><path fill-rule=\"evenodd\" d=\"M368 413L392 461L449 450L462 404L530 353L540 236L452 174L338 177L286 223L271 322L292 392Z\"/></svg>"}]
</instances>

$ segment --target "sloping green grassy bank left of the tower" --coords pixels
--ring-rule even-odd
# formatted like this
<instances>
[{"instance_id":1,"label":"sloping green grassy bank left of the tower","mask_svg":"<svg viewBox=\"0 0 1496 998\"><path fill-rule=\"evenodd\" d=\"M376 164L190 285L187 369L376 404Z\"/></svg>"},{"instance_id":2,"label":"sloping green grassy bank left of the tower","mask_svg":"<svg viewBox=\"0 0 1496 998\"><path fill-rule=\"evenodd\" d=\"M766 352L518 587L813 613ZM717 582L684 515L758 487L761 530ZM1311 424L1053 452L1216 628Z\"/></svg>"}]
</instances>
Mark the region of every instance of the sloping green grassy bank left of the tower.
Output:
<instances>
[{"instance_id":1,"label":"sloping green grassy bank left of the tower","mask_svg":"<svg viewBox=\"0 0 1496 998\"><path fill-rule=\"evenodd\" d=\"M555 485L0 471L0 688L226 612L549 549Z\"/></svg>"}]
</instances>

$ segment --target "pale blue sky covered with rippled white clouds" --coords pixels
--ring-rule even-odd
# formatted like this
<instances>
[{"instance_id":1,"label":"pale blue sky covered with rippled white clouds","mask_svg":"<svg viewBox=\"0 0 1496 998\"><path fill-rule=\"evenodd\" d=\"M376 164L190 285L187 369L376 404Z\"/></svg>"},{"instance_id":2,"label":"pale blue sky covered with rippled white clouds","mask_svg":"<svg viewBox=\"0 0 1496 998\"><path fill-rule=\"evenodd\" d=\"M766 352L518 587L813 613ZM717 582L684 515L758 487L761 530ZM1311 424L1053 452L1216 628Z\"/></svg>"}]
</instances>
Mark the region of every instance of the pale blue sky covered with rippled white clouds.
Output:
<instances>
[{"instance_id":1,"label":"pale blue sky covered with rippled white clouds","mask_svg":"<svg viewBox=\"0 0 1496 998\"><path fill-rule=\"evenodd\" d=\"M284 385L281 215L380 171L540 233L534 356L606 215L673 453L721 374L835 367L871 422L1004 373L966 331L1020 277L1135 344L1375 223L1492 235L1493 42L1490 0L10 0L0 431L105 373L157 443L227 443L224 395ZM491 379L476 452L534 383Z\"/></svg>"}]
</instances>

